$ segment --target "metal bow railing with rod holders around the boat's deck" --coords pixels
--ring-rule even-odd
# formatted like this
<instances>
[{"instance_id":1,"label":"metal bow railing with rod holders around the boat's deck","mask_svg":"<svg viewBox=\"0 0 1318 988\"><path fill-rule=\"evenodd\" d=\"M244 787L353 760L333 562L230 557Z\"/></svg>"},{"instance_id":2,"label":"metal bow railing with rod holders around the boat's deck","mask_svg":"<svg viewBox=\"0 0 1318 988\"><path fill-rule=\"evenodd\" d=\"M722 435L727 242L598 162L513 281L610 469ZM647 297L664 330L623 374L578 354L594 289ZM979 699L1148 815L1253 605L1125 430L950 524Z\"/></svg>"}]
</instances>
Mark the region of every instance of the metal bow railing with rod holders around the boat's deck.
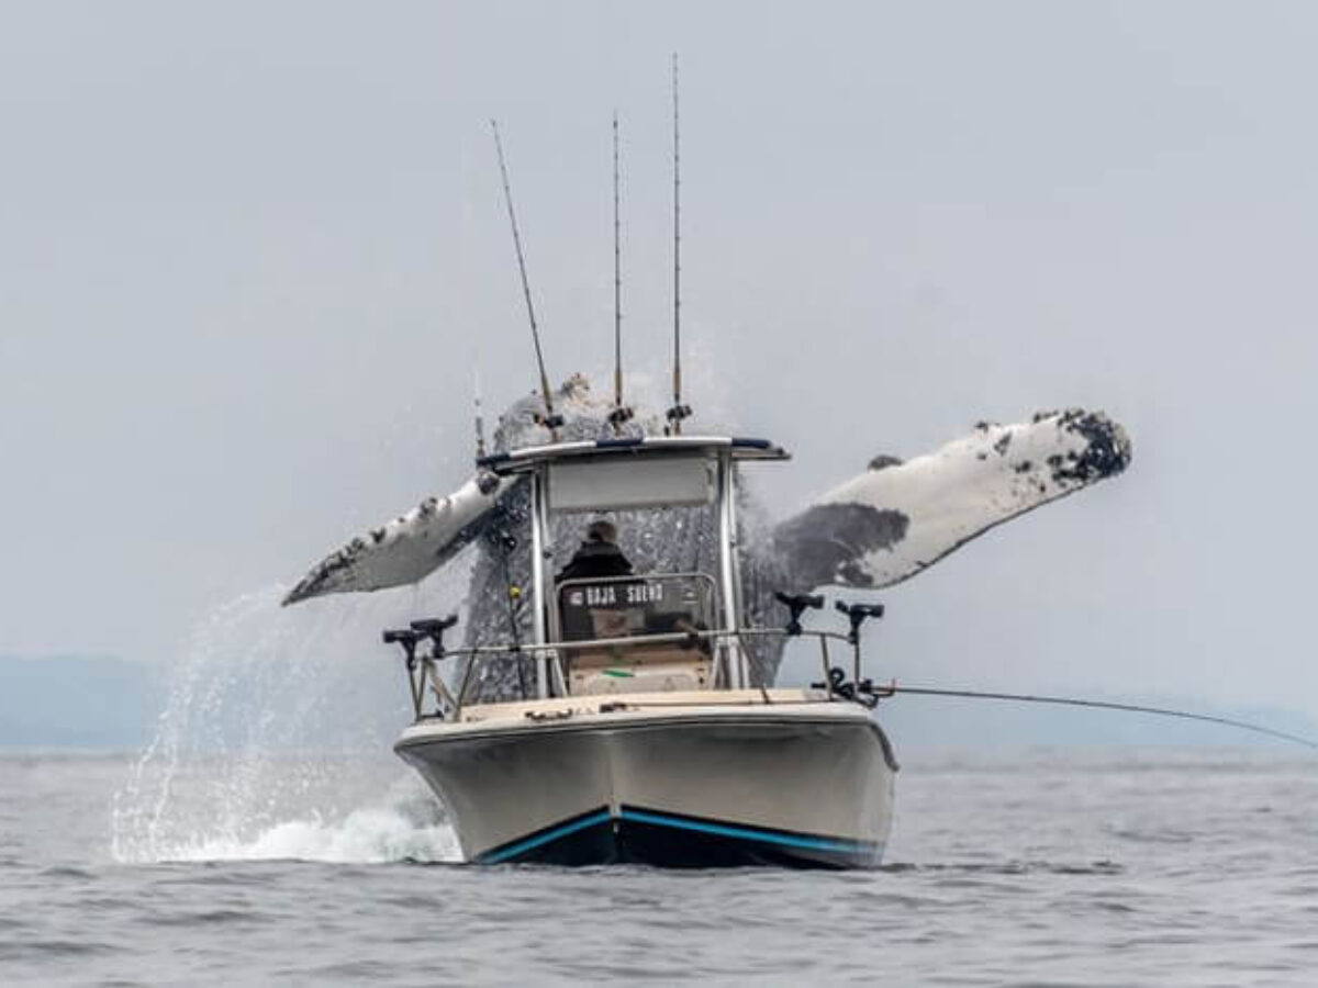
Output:
<instances>
[{"instance_id":1,"label":"metal bow railing with rod holders around the boat's deck","mask_svg":"<svg viewBox=\"0 0 1318 988\"><path fill-rule=\"evenodd\" d=\"M436 628L439 624L443 627ZM800 627L716 628L675 631L652 635L630 635L625 638L546 642L544 644L509 642L502 644L467 645L449 649L443 645L443 631L447 627L451 627L451 624L445 622L414 622L411 630L385 632L385 640L387 643L398 643L403 647L409 688L413 701L413 713L418 721L430 718L444 721L459 719L464 706L468 706L471 702L469 693L477 667L482 663L497 659L513 659L519 661L522 656L548 656L552 660L551 664L555 668L561 669L559 660L564 651L581 648L625 649L642 648L647 645L679 645L699 648L701 643L708 643L708 645L713 648L718 644L730 644L731 642L745 645L747 642L754 639L776 639L783 642L796 638L815 639L818 644L822 680L812 685L815 689L822 692L825 701L854 701L873 707L879 698L891 696L891 692L886 690L882 685L876 685L871 680L862 677L861 673L863 663L861 655L861 642L855 628L853 628L850 634L825 630L807 631ZM426 640L432 643L431 652L419 653L418 645ZM833 645L845 647L851 652L850 681L847 681L846 672L841 667L833 665L833 653L829 647L830 643L833 643ZM440 673L439 667L444 660L455 660L460 665L463 664L463 660L465 660L461 681L457 685L456 692L449 688L449 685L444 681L444 676ZM564 685L561 671L555 678L558 680L560 688L560 696L569 696ZM726 686L724 689L726 689ZM427 694L432 694L436 700L436 706L430 713L426 711Z\"/></svg>"}]
</instances>

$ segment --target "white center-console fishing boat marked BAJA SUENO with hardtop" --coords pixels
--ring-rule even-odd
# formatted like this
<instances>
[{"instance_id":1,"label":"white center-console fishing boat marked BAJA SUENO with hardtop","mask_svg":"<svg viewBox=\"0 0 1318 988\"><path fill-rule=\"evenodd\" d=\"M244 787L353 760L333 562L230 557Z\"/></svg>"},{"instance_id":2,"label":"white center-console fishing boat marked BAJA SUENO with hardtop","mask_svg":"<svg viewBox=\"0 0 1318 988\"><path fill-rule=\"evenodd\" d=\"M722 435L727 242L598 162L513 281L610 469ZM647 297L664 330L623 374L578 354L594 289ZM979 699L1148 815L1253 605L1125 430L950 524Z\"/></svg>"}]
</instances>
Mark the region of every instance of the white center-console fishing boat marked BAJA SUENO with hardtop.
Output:
<instances>
[{"instance_id":1,"label":"white center-console fishing boat marked BAJA SUENO with hardtop","mask_svg":"<svg viewBox=\"0 0 1318 988\"><path fill-rule=\"evenodd\" d=\"M735 473L786 458L758 440L683 436L560 443L482 464L530 482L535 620L521 648L534 657L532 696L468 702L480 664L507 663L513 643L445 652L443 622L389 634L409 651L416 713L394 750L444 801L468 860L880 860L898 765L866 696L845 700L855 684L829 678L826 661L816 688L750 677L747 642L791 632L743 620ZM713 516L713 572L552 580L555 516L673 508ZM808 603L818 599L792 599ZM845 635L805 634L825 660L830 639L851 649ZM463 664L456 690L440 661Z\"/></svg>"}]
</instances>

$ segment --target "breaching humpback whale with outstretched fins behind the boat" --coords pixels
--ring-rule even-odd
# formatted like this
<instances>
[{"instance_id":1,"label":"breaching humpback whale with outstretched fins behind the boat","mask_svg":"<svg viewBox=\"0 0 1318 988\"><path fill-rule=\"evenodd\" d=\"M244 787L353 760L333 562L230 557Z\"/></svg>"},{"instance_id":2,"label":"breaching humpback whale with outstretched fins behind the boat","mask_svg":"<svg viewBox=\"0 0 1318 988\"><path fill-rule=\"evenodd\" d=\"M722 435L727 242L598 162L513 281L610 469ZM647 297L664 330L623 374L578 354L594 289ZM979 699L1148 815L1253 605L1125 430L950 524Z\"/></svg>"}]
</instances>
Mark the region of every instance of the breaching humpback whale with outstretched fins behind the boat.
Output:
<instances>
[{"instance_id":1,"label":"breaching humpback whale with outstretched fins behind the boat","mask_svg":"<svg viewBox=\"0 0 1318 988\"><path fill-rule=\"evenodd\" d=\"M540 408L538 395L507 408L494 432L496 452L547 441ZM614 435L609 402L592 391L584 375L558 390L555 408L564 419L559 429L564 441ZM625 435L659 435L663 418L638 412L622 428ZM746 614L755 623L780 623L776 590L805 593L825 585L875 590L899 584L990 528L1115 476L1130 461L1131 443L1118 423L1098 411L1068 408L1007 425L981 422L969 435L905 461L876 456L863 473L778 523L764 520L741 490ZM529 580L529 547L509 535L525 520L527 502L525 483L477 468L452 494L427 498L332 552L283 602L414 584L473 547L467 644L503 639L510 607L526 635L529 609L507 588ZM619 526L622 545L638 569L697 568L710 541L706 524L681 510L647 514ZM555 544L571 551L577 536L555 531ZM563 563L565 557L555 566ZM780 657L776 639L755 649L757 685L772 684ZM507 700L525 677L510 656L503 664L482 664L473 688L482 700Z\"/></svg>"}]
</instances>

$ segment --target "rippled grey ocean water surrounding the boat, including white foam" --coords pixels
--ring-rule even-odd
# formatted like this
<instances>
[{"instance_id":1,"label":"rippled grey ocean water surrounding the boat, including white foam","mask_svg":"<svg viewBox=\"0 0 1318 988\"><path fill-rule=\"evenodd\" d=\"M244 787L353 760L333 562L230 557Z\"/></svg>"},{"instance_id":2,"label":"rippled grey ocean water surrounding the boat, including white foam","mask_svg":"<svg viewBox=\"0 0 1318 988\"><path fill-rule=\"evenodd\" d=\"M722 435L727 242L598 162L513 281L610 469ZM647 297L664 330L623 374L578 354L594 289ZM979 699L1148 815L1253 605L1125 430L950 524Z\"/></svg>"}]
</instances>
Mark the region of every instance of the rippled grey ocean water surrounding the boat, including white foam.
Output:
<instances>
[{"instance_id":1,"label":"rippled grey ocean water surrounding the boat, including white foam","mask_svg":"<svg viewBox=\"0 0 1318 988\"><path fill-rule=\"evenodd\" d=\"M467 867L391 757L0 756L0 984L1318 984L1318 759L902 751L873 872Z\"/></svg>"}]
</instances>

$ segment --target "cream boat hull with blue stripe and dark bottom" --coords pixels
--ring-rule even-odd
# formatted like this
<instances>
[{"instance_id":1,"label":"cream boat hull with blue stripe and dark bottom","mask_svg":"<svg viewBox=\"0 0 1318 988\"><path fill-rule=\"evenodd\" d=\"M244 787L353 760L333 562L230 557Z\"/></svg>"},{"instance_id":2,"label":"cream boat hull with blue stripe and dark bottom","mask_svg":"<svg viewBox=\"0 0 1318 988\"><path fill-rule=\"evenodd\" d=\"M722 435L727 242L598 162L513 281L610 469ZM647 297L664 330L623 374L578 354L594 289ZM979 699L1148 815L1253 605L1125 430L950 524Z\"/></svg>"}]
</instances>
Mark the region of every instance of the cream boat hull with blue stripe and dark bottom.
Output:
<instances>
[{"instance_id":1,"label":"cream boat hull with blue stripe and dark bottom","mask_svg":"<svg viewBox=\"0 0 1318 988\"><path fill-rule=\"evenodd\" d=\"M847 703L420 723L395 751L478 863L863 868L892 822L887 738Z\"/></svg>"}]
</instances>

